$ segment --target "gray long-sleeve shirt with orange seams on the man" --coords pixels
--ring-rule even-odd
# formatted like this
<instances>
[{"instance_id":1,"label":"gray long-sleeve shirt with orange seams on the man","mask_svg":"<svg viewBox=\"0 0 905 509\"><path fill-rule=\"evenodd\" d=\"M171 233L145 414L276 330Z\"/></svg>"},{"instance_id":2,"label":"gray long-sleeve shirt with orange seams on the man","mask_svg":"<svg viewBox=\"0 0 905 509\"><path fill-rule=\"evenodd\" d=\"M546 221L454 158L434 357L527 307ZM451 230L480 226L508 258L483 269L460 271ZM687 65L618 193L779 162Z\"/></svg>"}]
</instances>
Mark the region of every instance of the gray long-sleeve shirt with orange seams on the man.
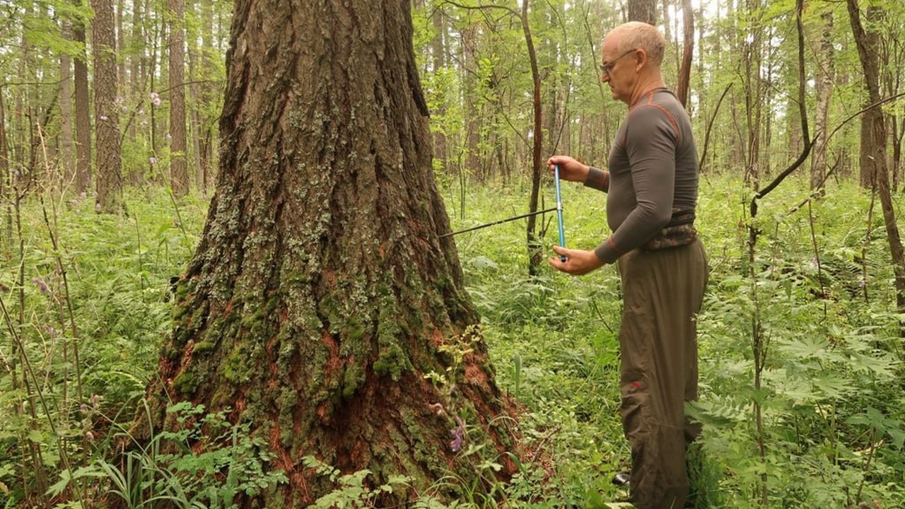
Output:
<instances>
[{"instance_id":1,"label":"gray long-sleeve shirt with orange seams on the man","mask_svg":"<svg viewBox=\"0 0 905 509\"><path fill-rule=\"evenodd\" d=\"M605 191L613 235L595 248L607 264L638 248L670 224L673 213L693 217L698 199L698 149L691 120L665 88L643 95L628 110L609 171L591 168L587 187Z\"/></svg>"}]
</instances>

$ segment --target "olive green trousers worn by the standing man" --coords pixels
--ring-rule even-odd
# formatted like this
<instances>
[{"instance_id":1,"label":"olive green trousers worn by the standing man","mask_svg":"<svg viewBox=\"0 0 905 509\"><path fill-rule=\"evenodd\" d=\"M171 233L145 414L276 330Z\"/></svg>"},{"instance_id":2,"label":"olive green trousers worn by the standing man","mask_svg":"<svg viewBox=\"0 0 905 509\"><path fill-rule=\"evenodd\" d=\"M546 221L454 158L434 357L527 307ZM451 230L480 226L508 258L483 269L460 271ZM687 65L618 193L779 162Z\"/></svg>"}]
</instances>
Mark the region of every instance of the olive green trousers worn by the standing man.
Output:
<instances>
[{"instance_id":1,"label":"olive green trousers worn by the standing man","mask_svg":"<svg viewBox=\"0 0 905 509\"><path fill-rule=\"evenodd\" d=\"M632 447L629 495L639 509L678 509L688 498L686 447L699 429L684 403L698 397L695 315L708 273L700 240L619 259L620 413Z\"/></svg>"}]
</instances>

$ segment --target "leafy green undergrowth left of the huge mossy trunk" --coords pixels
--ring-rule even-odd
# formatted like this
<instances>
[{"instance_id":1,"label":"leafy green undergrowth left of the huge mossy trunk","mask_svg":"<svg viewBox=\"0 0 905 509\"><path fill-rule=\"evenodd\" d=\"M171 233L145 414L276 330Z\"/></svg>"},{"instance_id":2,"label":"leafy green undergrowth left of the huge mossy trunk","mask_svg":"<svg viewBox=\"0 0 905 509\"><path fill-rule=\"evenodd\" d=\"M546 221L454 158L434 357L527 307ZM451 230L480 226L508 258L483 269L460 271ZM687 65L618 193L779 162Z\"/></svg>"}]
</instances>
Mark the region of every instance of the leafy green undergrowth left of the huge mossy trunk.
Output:
<instances>
[{"instance_id":1,"label":"leafy green undergrowth left of the huge mossy trunk","mask_svg":"<svg viewBox=\"0 0 905 509\"><path fill-rule=\"evenodd\" d=\"M58 473L84 482L87 458L110 446L103 438L111 427L133 417L127 408L156 370L170 333L169 278L186 263L204 209L186 200L180 228L162 191L127 203L127 216L99 216L92 200L48 193L43 203L24 203L22 252L5 245L0 500L40 497Z\"/></svg>"}]
</instances>

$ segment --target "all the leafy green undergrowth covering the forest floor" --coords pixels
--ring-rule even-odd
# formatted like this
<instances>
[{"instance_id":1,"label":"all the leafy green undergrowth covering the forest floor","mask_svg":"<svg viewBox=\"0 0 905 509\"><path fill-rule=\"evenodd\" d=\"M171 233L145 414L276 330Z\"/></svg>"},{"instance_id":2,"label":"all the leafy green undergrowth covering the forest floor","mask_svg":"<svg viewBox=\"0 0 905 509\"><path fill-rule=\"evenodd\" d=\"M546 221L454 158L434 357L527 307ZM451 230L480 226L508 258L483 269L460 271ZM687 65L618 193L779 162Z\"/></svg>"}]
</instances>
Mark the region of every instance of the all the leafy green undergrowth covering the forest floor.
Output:
<instances>
[{"instance_id":1,"label":"all the leafy green undergrowth covering the forest floor","mask_svg":"<svg viewBox=\"0 0 905 509\"><path fill-rule=\"evenodd\" d=\"M519 183L472 189L464 206L450 191L453 229L527 212ZM551 203L552 189L545 194ZM607 231L605 197L580 186L563 194L567 245L595 246ZM745 187L725 178L701 182L697 225L712 272L699 317L700 401L688 408L704 424L692 478L696 506L899 507L902 317L880 211L846 184L811 207L797 207L804 192L780 188L775 195L761 204L752 267ZM154 376L170 332L169 278L191 255L206 205L190 198L176 208L153 189L127 201L127 215L110 217L96 215L90 200L43 207L35 199L22 211L23 255L15 222L5 235L0 283L10 326L0 336L0 501L7 507L29 506L46 493L69 506L119 496L130 506L181 500L229 507L235 489L281 482L280 473L265 473L268 458L252 454L257 445L243 438L241 425L220 427L217 437L228 439L217 446L211 437L194 459L188 452L129 456L134 472L153 477L144 488L139 481L138 493L122 481L128 468L105 463ZM556 217L539 224L549 255ZM543 264L529 277L524 228L519 220L455 240L498 383L521 405L530 456L517 458L521 473L495 486L492 498L474 494L444 505L425 495L416 506L623 506L627 494L610 484L629 459L618 413L618 274L607 266L571 277ZM480 444L469 446L463 455L483 454ZM492 470L495 461L476 464ZM367 507L380 490L394 489L367 486L367 472L318 467L337 482L320 506ZM236 474L224 484L217 472ZM394 482L404 485L405 473ZM146 496L151 490L163 497L159 504Z\"/></svg>"}]
</instances>

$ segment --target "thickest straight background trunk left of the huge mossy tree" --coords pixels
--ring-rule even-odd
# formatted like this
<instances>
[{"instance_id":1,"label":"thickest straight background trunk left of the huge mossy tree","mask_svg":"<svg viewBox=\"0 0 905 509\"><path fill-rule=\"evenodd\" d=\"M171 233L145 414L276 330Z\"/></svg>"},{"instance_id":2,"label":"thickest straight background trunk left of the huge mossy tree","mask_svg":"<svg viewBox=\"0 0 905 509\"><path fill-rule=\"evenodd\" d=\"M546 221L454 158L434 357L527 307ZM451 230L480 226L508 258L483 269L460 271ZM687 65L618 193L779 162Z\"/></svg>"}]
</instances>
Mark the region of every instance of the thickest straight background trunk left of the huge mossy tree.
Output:
<instances>
[{"instance_id":1,"label":"thickest straight background trunk left of the huge mossy tree","mask_svg":"<svg viewBox=\"0 0 905 509\"><path fill-rule=\"evenodd\" d=\"M91 0L94 9L94 115L97 139L97 204L101 212L122 210L122 161L119 149L116 30L113 0Z\"/></svg>"}]
</instances>

